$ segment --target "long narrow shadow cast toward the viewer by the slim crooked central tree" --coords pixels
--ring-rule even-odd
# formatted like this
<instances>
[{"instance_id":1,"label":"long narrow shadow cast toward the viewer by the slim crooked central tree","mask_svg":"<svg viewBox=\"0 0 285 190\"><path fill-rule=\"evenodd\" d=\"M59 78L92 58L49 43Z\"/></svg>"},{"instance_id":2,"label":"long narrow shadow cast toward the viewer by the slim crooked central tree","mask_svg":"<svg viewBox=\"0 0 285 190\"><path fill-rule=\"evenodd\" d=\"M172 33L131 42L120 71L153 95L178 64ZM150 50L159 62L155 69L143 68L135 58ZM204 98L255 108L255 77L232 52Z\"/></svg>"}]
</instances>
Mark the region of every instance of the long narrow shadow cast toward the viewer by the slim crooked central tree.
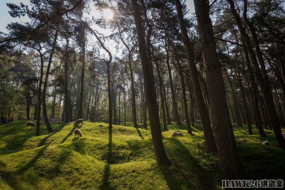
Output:
<instances>
[{"instance_id":1,"label":"long narrow shadow cast toward the viewer by the slim crooked central tree","mask_svg":"<svg viewBox=\"0 0 285 190\"><path fill-rule=\"evenodd\" d=\"M103 174L103 183L100 189L111 189L110 187L110 163L112 163L112 128L109 128L109 141L108 141L108 152L107 152L107 164Z\"/></svg>"}]
</instances>

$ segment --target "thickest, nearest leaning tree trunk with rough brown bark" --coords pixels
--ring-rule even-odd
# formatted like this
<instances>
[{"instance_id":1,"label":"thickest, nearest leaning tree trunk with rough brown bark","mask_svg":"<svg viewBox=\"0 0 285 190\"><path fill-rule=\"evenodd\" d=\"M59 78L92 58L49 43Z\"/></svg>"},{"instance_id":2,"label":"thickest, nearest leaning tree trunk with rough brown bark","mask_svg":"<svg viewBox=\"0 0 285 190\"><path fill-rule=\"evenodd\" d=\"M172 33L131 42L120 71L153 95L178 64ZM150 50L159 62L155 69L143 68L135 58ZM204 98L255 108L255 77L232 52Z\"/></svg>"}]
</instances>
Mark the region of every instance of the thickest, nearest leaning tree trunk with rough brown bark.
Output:
<instances>
[{"instance_id":1,"label":"thickest, nearest leaning tree trunk with rough brown bark","mask_svg":"<svg viewBox=\"0 0 285 190\"><path fill-rule=\"evenodd\" d=\"M180 5L180 1L178 5ZM245 173L241 159L239 158L233 128L231 127L231 119L227 108L225 86L222 78L221 65L217 57L216 43L211 18L209 17L208 4L207 1L194 0L194 5L209 87L210 106L213 112L213 126L222 176L223 179L230 180L244 179Z\"/></svg>"}]
</instances>

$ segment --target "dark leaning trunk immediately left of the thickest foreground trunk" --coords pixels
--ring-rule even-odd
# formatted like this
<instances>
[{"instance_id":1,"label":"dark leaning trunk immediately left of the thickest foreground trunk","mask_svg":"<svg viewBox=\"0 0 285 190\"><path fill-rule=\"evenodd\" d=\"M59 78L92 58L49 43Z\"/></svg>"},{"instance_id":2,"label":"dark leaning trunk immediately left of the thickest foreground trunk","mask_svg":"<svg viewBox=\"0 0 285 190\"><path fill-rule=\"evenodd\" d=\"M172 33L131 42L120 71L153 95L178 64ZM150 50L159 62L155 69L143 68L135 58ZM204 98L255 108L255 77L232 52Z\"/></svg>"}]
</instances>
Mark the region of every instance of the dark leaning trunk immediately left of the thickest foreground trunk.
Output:
<instances>
[{"instance_id":1,"label":"dark leaning trunk immediately left of the thickest foreground trunk","mask_svg":"<svg viewBox=\"0 0 285 190\"><path fill-rule=\"evenodd\" d=\"M201 121L202 121L202 125L203 125L203 132L204 132L204 136L205 136L205 141L206 144L209 146L209 148L212 151L216 151L217 147L215 144L215 138L214 138L214 134L211 128L211 122L210 122L210 118L209 118L209 114L204 102L204 98L203 98L203 94L202 94L202 90L201 90L201 86L200 86L200 82L198 79L198 74L197 74L197 68L195 65L195 61L194 61L194 48L193 45L190 43L189 40L189 36L187 33L187 29L186 29L186 25L184 22L184 18L183 18L183 13L182 13L182 6L180 3L180 0L175 0L175 5L176 5L176 10L177 10L177 16L178 16L178 21L179 21L179 25L180 25L180 29L181 29L181 34L182 34L182 38L183 38L183 43L184 43L184 48L186 50L186 57L187 57L187 62L188 62L188 66L190 69L190 74L191 74L191 79L192 79L192 83L193 83L193 87L194 87L194 92L195 92L195 97L196 97L196 101L198 104L198 109L200 112L200 117L201 117ZM214 112L213 112L214 113Z\"/></svg>"}]
</instances>

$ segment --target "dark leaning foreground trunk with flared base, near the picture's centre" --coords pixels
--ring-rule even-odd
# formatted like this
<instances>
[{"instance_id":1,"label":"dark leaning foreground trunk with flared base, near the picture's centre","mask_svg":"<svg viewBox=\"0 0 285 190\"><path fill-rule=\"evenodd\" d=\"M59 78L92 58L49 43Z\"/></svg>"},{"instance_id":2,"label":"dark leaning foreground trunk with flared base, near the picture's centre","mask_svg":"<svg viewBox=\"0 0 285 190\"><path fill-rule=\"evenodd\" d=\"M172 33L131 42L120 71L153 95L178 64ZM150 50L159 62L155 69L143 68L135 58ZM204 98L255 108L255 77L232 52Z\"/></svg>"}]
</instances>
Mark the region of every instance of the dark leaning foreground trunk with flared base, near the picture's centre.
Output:
<instances>
[{"instance_id":1,"label":"dark leaning foreground trunk with flared base, near the picture's centre","mask_svg":"<svg viewBox=\"0 0 285 190\"><path fill-rule=\"evenodd\" d=\"M154 86L153 71L150 68L149 61L147 59L146 53L146 44L144 39L144 29L141 20L141 14L139 11L139 7L137 4L137 0L131 0L133 14L135 18L135 25L137 29L138 35L138 45L139 45L139 53L141 57L141 63L143 67L143 75L144 75L144 85L146 90L146 102L148 107L148 116L150 122L150 130L152 136L152 143L154 146L154 154L156 156L156 161L160 164L169 166L171 165L170 160L168 159L164 145L162 143L162 134L160 129L159 117L157 107L154 106L157 104L156 102L156 92Z\"/></svg>"}]
</instances>

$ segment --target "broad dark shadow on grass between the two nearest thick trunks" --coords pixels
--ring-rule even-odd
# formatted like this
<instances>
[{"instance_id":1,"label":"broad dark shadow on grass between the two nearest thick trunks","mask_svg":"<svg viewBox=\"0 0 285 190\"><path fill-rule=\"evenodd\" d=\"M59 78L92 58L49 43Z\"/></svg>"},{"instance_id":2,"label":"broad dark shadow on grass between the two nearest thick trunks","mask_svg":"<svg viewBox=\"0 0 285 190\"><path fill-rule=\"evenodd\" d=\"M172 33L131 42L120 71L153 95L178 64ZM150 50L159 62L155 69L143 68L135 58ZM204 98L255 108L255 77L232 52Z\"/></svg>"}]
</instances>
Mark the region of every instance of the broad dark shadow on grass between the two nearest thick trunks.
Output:
<instances>
[{"instance_id":1,"label":"broad dark shadow on grass between the two nearest thick trunks","mask_svg":"<svg viewBox=\"0 0 285 190\"><path fill-rule=\"evenodd\" d=\"M176 138L165 140L171 143L171 146L166 146L166 152L172 166L160 165L160 171L170 189L215 189L213 175L215 172L219 175L219 168L213 171L203 168Z\"/></svg>"}]
</instances>

